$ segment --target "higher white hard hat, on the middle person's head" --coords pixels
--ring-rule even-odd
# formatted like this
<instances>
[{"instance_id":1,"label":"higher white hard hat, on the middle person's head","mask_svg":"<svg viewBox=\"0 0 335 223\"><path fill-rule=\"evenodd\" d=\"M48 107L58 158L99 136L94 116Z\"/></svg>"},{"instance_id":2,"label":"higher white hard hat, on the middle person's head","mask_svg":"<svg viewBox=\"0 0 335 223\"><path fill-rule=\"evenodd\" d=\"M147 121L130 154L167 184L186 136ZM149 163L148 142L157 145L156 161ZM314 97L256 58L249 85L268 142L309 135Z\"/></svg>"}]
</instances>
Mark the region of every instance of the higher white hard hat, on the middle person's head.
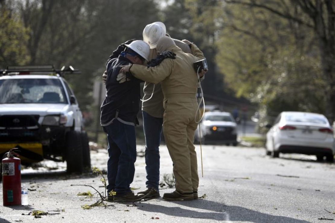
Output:
<instances>
[{"instance_id":1,"label":"higher white hard hat, on the middle person's head","mask_svg":"<svg viewBox=\"0 0 335 223\"><path fill-rule=\"evenodd\" d=\"M162 22L153 22L143 29L143 40L149 44L150 48L156 48L160 37L165 36L166 27Z\"/></svg>"}]
</instances>

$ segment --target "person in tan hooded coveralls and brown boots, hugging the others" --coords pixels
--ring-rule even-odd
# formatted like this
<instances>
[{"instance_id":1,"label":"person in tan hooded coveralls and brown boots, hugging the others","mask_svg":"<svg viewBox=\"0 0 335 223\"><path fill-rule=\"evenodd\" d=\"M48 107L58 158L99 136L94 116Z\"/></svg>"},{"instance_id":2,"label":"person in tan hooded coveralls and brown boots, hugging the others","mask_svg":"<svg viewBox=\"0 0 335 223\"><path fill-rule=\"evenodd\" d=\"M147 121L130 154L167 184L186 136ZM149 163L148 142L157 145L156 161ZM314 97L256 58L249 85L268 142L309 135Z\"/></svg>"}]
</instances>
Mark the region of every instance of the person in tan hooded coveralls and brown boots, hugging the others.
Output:
<instances>
[{"instance_id":1,"label":"person in tan hooded coveralls and brown boots, hugging the others","mask_svg":"<svg viewBox=\"0 0 335 223\"><path fill-rule=\"evenodd\" d=\"M176 178L176 191L165 193L164 200L193 200L193 193L198 191L197 154L193 145L198 77L193 63L204 55L195 44L191 43L190 47L193 55L184 53L170 37L163 36L157 43L157 52L173 51L176 59L165 59L156 67L127 65L121 69L146 82L161 82L165 109L163 132Z\"/></svg>"}]
</instances>

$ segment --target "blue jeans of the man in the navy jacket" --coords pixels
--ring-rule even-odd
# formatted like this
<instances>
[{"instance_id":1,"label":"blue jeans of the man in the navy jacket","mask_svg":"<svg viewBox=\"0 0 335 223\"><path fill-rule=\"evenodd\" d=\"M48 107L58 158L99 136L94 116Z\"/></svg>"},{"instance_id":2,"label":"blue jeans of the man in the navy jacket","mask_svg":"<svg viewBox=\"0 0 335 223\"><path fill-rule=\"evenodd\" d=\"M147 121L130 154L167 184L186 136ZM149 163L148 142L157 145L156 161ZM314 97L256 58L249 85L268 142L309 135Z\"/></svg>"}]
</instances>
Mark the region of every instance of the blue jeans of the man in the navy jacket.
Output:
<instances>
[{"instance_id":1,"label":"blue jeans of the man in the navy jacket","mask_svg":"<svg viewBox=\"0 0 335 223\"><path fill-rule=\"evenodd\" d=\"M130 192L130 184L134 180L136 161L135 126L126 125L118 120L103 126L107 133L107 191L114 190L117 195Z\"/></svg>"}]
</instances>

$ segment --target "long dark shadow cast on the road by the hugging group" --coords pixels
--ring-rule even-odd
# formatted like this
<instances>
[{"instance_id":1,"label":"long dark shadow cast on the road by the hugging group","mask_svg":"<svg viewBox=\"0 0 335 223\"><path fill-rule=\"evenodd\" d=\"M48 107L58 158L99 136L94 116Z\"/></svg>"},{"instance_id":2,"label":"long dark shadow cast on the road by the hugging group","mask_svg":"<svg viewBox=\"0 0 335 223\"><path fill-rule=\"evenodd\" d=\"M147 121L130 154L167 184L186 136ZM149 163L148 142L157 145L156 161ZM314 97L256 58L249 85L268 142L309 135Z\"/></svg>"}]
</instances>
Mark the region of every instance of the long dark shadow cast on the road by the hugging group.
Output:
<instances>
[{"instance_id":1,"label":"long dark shadow cast on the road by the hugging group","mask_svg":"<svg viewBox=\"0 0 335 223\"><path fill-rule=\"evenodd\" d=\"M248 221L257 223L268 223L268 222L308 223L308 221L304 220L265 214L239 206L229 206L219 202L208 201L208 200L199 199L193 201L175 201L173 203L197 210L189 210L180 207L166 207L162 205L155 205L149 203L142 203L141 207L138 207L138 209L142 211L162 213L176 217L212 219L218 221Z\"/></svg>"}]
</instances>

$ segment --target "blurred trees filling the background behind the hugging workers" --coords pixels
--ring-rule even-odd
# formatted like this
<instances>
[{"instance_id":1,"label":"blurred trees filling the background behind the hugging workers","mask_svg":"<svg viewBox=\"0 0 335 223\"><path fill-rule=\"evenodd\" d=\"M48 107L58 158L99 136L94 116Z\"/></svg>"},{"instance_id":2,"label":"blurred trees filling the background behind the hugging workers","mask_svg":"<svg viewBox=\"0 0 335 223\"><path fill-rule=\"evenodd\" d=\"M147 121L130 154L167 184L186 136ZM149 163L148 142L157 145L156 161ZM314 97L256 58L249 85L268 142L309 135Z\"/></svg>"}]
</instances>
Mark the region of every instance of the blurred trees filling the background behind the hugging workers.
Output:
<instances>
[{"instance_id":1,"label":"blurred trees filling the background behind the hugging workers","mask_svg":"<svg viewBox=\"0 0 335 223\"><path fill-rule=\"evenodd\" d=\"M0 65L72 65L67 77L82 111L97 116L93 82L120 43L165 23L203 51L205 100L335 115L334 0L0 0Z\"/></svg>"}]
</instances>

